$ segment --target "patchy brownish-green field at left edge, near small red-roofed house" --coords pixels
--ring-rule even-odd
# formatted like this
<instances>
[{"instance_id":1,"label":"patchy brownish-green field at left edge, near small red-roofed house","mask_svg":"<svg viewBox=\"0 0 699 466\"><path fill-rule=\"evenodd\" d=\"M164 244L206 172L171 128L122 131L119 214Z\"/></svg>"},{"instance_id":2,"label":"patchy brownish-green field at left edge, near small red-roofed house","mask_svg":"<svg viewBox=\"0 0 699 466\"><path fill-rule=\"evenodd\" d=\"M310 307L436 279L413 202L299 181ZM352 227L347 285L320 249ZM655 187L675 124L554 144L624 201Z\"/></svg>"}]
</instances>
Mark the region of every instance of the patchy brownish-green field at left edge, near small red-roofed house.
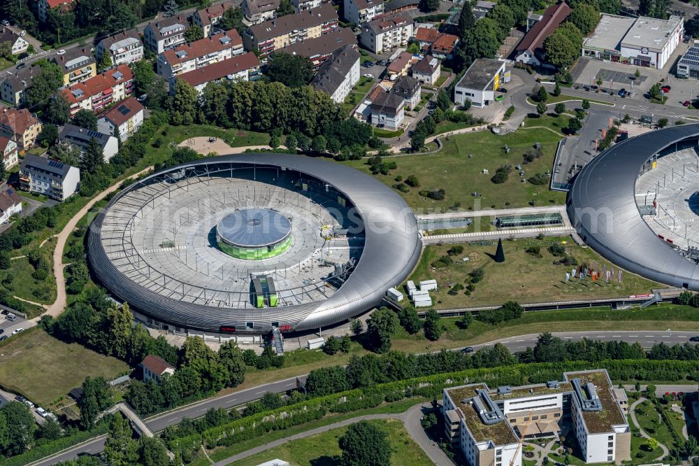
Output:
<instances>
[{"instance_id":1,"label":"patchy brownish-green field at left edge, near small red-roofed house","mask_svg":"<svg viewBox=\"0 0 699 466\"><path fill-rule=\"evenodd\" d=\"M33 327L0 346L0 386L48 407L87 376L115 379L129 370L79 344L65 344Z\"/></svg>"}]
</instances>

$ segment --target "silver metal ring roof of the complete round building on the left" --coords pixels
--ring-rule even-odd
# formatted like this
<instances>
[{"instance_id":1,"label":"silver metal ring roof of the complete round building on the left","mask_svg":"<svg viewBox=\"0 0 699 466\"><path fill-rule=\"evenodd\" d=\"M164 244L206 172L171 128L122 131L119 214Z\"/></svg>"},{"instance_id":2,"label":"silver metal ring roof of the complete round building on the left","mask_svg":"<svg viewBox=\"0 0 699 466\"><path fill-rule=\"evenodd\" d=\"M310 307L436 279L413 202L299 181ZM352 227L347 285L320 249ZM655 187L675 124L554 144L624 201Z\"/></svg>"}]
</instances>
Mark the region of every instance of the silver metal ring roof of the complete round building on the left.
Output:
<instances>
[{"instance_id":1,"label":"silver metal ring roof of the complete round building on the left","mask_svg":"<svg viewBox=\"0 0 699 466\"><path fill-rule=\"evenodd\" d=\"M144 288L121 274L110 262L101 243L105 213L123 195L166 173L208 164L240 167L282 167L331 185L349 199L359 213L365 234L363 252L352 274L324 301L263 309L235 309L180 302ZM422 243L412 209L394 190L375 178L334 162L301 155L242 153L187 162L143 178L115 196L90 227L87 247L92 270L115 295L143 313L164 323L219 331L222 325L245 329L253 321L256 332L271 323L289 324L294 330L308 330L341 322L380 304L385 290L398 285L417 264Z\"/></svg>"}]
</instances>

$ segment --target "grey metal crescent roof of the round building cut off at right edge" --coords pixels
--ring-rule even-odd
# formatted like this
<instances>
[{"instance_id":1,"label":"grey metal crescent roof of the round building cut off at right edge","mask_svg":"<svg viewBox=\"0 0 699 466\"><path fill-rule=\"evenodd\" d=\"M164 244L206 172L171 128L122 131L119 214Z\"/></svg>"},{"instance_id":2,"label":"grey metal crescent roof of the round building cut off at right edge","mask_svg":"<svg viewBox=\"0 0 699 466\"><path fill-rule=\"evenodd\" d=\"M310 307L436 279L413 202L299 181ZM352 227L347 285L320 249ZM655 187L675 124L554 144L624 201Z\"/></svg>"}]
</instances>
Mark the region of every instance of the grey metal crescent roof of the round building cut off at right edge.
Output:
<instances>
[{"instance_id":1,"label":"grey metal crescent roof of the round building cut off at right edge","mask_svg":"<svg viewBox=\"0 0 699 466\"><path fill-rule=\"evenodd\" d=\"M643 164L661 150L698 136L699 124L660 129L617 143L591 160L568 195L568 216L583 241L635 274L699 290L699 267L658 238L635 200Z\"/></svg>"}]
</instances>

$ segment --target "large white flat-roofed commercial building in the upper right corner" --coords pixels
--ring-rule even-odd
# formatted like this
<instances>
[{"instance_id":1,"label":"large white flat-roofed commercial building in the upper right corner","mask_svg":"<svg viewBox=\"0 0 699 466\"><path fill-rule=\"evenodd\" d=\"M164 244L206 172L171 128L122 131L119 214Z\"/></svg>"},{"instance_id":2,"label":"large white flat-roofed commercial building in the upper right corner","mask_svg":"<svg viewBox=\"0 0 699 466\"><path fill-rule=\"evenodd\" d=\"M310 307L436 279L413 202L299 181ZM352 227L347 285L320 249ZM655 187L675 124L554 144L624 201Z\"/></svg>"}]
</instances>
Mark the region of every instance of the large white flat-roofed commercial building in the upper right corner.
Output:
<instances>
[{"instance_id":1,"label":"large white flat-roofed commercial building in the upper right corner","mask_svg":"<svg viewBox=\"0 0 699 466\"><path fill-rule=\"evenodd\" d=\"M583 41L582 55L663 69L684 35L684 19L624 17L603 14L595 31Z\"/></svg>"}]
</instances>

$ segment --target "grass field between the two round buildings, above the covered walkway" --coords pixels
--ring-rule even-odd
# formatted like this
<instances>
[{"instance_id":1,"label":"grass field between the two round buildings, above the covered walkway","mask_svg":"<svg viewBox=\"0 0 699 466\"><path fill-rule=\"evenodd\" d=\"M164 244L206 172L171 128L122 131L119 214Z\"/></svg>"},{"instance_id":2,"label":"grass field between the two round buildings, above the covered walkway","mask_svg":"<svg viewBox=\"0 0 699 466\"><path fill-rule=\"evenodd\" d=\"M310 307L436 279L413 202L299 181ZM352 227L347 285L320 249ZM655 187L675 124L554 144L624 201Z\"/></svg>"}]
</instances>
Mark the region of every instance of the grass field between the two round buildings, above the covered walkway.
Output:
<instances>
[{"instance_id":1,"label":"grass field between the two round buildings, above the covered walkway","mask_svg":"<svg viewBox=\"0 0 699 466\"><path fill-rule=\"evenodd\" d=\"M490 206L503 209L525 207L532 202L535 205L563 204L564 193L549 191L546 185L521 183L515 171L510 173L505 183L496 185L491 181L498 167L521 164L526 150L536 142L541 143L542 157L523 166L526 176L551 171L560 140L561 136L547 129L520 130L505 136L483 131L458 134L445 138L442 141L444 148L438 153L391 159L398 164L398 168L391 170L389 175L379 174L376 177L391 186L396 183L394 178L398 175L403 179L410 175L417 176L419 188L410 188L410 191L400 194L418 211L445 211L452 206L469 210L488 209ZM510 153L505 153L504 146L510 148ZM370 173L366 160L346 163ZM489 174L484 174L484 169L489 170ZM419 195L420 190L440 188L445 190L445 199L441 201ZM481 197L473 197L471 193L474 191L480 192Z\"/></svg>"}]
</instances>

